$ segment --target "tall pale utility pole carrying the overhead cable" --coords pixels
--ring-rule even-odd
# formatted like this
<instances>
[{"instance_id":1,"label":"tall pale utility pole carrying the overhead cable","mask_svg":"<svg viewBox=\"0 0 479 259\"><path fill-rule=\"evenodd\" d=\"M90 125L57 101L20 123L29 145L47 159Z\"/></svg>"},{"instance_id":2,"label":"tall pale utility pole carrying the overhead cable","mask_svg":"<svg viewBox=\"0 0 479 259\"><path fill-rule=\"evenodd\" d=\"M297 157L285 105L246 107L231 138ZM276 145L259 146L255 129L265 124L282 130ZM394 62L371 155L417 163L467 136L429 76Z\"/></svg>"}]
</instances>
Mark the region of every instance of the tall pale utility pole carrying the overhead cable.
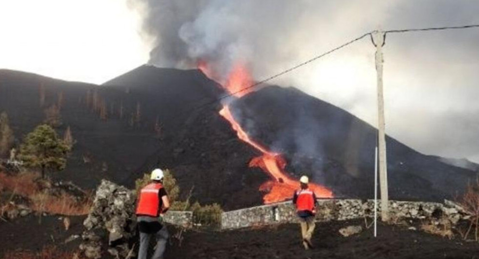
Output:
<instances>
[{"instance_id":1,"label":"tall pale utility pole carrying the overhead cable","mask_svg":"<svg viewBox=\"0 0 479 259\"><path fill-rule=\"evenodd\" d=\"M389 198L387 190L386 137L384 129L384 98L383 98L383 46L385 34L377 30L372 34L376 47L376 72L378 79L378 149L379 149L379 181L381 185L381 218L389 220Z\"/></svg>"}]
</instances>

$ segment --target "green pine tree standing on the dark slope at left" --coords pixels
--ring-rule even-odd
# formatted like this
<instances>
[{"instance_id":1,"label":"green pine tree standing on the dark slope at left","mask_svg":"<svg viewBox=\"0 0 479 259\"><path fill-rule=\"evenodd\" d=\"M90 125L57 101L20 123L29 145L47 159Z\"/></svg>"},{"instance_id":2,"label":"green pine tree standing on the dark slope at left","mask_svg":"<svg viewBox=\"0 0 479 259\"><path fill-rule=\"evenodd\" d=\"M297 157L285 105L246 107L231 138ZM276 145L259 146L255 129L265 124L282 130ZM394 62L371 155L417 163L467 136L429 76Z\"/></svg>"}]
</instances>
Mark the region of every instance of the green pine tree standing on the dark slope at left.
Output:
<instances>
[{"instance_id":1,"label":"green pine tree standing on the dark slope at left","mask_svg":"<svg viewBox=\"0 0 479 259\"><path fill-rule=\"evenodd\" d=\"M42 178L45 178L47 170L65 169L68 151L68 146L58 138L53 128L40 125L26 135L19 157L25 166L40 168Z\"/></svg>"}]
</instances>

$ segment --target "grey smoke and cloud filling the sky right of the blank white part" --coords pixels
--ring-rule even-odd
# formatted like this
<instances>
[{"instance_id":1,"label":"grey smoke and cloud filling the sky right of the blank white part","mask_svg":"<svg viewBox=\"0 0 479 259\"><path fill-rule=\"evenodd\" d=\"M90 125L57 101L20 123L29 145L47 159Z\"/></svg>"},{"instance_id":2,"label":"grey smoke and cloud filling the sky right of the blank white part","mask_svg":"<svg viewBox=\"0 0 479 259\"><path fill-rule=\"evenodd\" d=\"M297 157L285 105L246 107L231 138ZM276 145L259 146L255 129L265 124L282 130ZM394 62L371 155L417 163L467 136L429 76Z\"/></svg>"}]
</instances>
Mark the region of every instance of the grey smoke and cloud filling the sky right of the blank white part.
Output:
<instances>
[{"instance_id":1,"label":"grey smoke and cloud filling the sky right of the blank white part","mask_svg":"<svg viewBox=\"0 0 479 259\"><path fill-rule=\"evenodd\" d=\"M150 64L218 81L235 62L257 80L367 31L479 24L479 2L130 0L152 42ZM390 34L384 47L386 131L433 155L479 162L479 29ZM374 48L364 39L272 83L293 85L376 124Z\"/></svg>"}]
</instances>

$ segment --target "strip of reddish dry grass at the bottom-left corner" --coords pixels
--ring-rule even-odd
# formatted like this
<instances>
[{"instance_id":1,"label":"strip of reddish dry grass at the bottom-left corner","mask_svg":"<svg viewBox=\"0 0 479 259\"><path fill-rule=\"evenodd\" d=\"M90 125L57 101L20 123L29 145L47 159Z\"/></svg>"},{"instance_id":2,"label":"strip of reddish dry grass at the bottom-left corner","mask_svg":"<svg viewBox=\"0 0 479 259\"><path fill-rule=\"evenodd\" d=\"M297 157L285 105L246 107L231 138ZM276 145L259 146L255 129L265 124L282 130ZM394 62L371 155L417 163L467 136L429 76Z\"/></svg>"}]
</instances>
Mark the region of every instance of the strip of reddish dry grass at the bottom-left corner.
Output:
<instances>
[{"instance_id":1,"label":"strip of reddish dry grass at the bottom-left corner","mask_svg":"<svg viewBox=\"0 0 479 259\"><path fill-rule=\"evenodd\" d=\"M45 247L40 252L10 251L6 252L3 259L85 259L79 252L64 252L56 247Z\"/></svg>"}]
</instances>

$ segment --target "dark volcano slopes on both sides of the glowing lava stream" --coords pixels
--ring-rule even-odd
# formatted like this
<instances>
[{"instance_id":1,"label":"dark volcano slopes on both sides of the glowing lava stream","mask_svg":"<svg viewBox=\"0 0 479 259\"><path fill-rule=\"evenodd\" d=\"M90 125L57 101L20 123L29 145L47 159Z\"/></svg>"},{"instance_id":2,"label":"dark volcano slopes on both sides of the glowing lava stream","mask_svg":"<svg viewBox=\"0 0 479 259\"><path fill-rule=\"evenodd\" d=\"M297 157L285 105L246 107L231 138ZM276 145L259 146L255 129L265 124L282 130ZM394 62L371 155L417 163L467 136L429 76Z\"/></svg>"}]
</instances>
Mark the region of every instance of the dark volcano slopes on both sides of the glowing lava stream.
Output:
<instances>
[{"instance_id":1,"label":"dark volcano slopes on both sides of the glowing lava stream","mask_svg":"<svg viewBox=\"0 0 479 259\"><path fill-rule=\"evenodd\" d=\"M18 142L63 100L57 131L70 126L77 143L67 169L53 177L87 188L101 178L133 187L160 166L173 170L183 195L192 190L193 201L227 210L258 205L268 176L248 166L260 154L218 114L223 94L198 70L144 65L101 86L0 70L0 111L8 112ZM373 196L370 125L295 88L264 87L230 106L253 139L285 155L293 176L308 174L339 197ZM387 150L390 197L397 200L451 198L477 175L392 138Z\"/></svg>"}]
</instances>

